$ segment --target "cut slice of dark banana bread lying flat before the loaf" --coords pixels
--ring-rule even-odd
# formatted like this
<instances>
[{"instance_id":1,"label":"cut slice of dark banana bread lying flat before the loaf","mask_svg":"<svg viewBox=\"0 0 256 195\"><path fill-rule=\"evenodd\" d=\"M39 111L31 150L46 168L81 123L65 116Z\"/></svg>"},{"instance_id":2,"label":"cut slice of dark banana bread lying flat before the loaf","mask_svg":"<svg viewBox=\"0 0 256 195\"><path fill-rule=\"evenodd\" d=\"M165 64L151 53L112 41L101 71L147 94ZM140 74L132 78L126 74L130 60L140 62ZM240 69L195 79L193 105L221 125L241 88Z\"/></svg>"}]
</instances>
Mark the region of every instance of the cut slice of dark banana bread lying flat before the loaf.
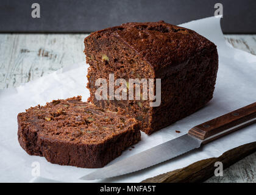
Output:
<instances>
[{"instance_id":1,"label":"cut slice of dark banana bread lying flat before the loaf","mask_svg":"<svg viewBox=\"0 0 256 195\"><path fill-rule=\"evenodd\" d=\"M51 163L101 168L140 141L140 130L135 119L77 96L19 113L18 141L28 154Z\"/></svg>"}]
</instances>

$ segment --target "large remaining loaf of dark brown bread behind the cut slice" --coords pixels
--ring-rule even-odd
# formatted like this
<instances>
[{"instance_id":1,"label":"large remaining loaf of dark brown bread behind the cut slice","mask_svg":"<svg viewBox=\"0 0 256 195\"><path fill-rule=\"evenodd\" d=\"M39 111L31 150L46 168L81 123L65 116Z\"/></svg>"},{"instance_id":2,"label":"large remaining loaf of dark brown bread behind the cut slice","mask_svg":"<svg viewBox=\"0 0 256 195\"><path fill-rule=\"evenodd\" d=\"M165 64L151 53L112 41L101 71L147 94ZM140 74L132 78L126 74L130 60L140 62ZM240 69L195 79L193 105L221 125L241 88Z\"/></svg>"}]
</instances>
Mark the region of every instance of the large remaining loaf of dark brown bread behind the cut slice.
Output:
<instances>
[{"instance_id":1,"label":"large remaining loaf of dark brown bread behind the cut slice","mask_svg":"<svg viewBox=\"0 0 256 195\"><path fill-rule=\"evenodd\" d=\"M163 21L127 23L93 32L84 44L90 65L88 101L129 114L148 135L196 112L213 98L218 52L215 44L193 30ZM160 106L150 107L150 100L143 99L96 99L96 80L108 82L109 74L115 74L115 80L161 79Z\"/></svg>"}]
</instances>

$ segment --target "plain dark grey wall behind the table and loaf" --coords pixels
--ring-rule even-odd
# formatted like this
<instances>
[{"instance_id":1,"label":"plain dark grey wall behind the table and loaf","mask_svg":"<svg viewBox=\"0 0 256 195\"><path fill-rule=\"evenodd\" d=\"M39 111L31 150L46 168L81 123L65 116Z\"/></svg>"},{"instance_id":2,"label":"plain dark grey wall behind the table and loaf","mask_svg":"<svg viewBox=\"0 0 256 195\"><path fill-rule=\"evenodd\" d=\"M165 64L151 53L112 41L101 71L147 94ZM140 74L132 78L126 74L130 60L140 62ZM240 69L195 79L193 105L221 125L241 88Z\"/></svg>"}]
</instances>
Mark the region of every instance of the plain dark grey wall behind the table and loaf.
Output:
<instances>
[{"instance_id":1,"label":"plain dark grey wall behind the table and loaf","mask_svg":"<svg viewBox=\"0 0 256 195\"><path fill-rule=\"evenodd\" d=\"M32 18L37 2L41 18ZM92 32L131 21L180 24L224 7L224 33L256 33L256 0L0 0L0 32Z\"/></svg>"}]
</instances>

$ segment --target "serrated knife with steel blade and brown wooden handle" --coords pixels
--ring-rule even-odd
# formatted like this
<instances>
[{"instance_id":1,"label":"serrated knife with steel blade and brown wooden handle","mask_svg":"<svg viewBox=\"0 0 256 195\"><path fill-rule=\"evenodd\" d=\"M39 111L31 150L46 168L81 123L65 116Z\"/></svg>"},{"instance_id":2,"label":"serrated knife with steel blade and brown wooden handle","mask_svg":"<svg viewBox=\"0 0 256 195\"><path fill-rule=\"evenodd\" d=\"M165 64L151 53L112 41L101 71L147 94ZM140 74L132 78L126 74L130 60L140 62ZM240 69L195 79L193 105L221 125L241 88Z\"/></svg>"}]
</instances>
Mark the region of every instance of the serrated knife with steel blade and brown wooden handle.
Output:
<instances>
[{"instance_id":1,"label":"serrated knife with steel blade and brown wooden handle","mask_svg":"<svg viewBox=\"0 0 256 195\"><path fill-rule=\"evenodd\" d=\"M105 166L80 179L105 179L139 171L199 148L210 141L249 126L254 122L256 122L256 102L199 124L181 137L166 141L132 157L120 160L113 165Z\"/></svg>"}]
</instances>

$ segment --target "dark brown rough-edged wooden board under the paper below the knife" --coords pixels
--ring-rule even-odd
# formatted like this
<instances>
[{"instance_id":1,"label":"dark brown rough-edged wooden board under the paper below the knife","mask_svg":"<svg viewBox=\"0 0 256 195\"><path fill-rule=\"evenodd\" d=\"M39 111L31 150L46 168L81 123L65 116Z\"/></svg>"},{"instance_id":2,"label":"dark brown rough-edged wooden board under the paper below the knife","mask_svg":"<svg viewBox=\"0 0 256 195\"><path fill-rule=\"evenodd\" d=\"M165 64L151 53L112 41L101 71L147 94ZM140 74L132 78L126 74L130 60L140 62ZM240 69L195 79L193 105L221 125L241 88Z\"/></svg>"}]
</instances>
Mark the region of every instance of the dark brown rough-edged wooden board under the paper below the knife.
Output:
<instances>
[{"instance_id":1,"label":"dark brown rough-edged wooden board under the paper below the knife","mask_svg":"<svg viewBox=\"0 0 256 195\"><path fill-rule=\"evenodd\" d=\"M230 151L225 152L220 157L217 158L208 158L205 160L197 161L185 168L176 169L171 172L167 172L165 174L161 174L156 177L152 177L146 180L143 180L143 183L148 182L161 182L161 183L176 183L176 182L203 182L205 179L214 175L215 172L215 162L221 161L223 167L226 168L232 165L233 162L240 160L246 155L251 154L256 150L256 142L244 144L243 146L236 147L231 149ZM240 155L238 155L240 154ZM239 171L239 170L235 170ZM230 180L222 180L226 178L227 171L223 172L223 176L212 177L212 179L207 180L207 182L238 182L238 180L230 179ZM233 172L233 175L237 174L237 172ZM254 175L252 174L244 174L242 177L242 182L256 182ZM218 178L218 179L217 179Z\"/></svg>"}]
</instances>

